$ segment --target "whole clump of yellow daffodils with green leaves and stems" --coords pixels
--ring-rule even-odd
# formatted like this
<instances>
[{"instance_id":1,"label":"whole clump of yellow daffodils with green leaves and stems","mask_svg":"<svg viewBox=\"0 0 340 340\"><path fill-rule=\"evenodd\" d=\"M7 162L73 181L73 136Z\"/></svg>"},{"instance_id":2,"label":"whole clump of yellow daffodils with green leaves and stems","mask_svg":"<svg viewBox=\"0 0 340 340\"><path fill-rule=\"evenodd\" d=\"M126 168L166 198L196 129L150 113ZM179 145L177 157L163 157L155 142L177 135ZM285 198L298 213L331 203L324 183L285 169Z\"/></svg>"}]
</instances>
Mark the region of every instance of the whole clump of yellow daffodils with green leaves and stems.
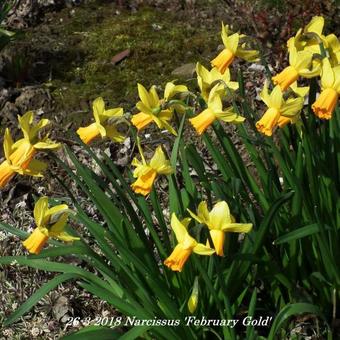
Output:
<instances>
[{"instance_id":1,"label":"whole clump of yellow daffodils with green leaves and stems","mask_svg":"<svg viewBox=\"0 0 340 340\"><path fill-rule=\"evenodd\" d=\"M319 335L331 338L333 303L340 296L340 42L323 26L323 17L314 17L289 39L289 66L262 84L259 111L252 109L255 98L245 91L241 70L231 68L238 58L258 62L260 53L251 37L224 24L223 50L210 65L197 63L199 92L174 81L164 89L138 84L139 101L130 111L95 99L93 122L73 135L100 175L66 145L68 163L56 155L61 145L40 133L47 119L35 121L32 112L18 117L23 137L14 142L6 129L1 188L14 176L42 176L47 165L35 156L49 149L51 161L87 195L102 223L87 215L56 174L72 205L37 198L36 226L28 235L0 224L22 236L32 254L3 256L0 264L59 272L5 325L56 285L74 280L122 315L74 336L285 338L294 317L308 314L318 320ZM252 172L226 132L228 124L236 126ZM143 139L151 127L172 147L154 140L146 157ZM185 137L190 129L212 161ZM127 136L139 156L122 173L93 148ZM86 269L53 260L70 254L86 261Z\"/></svg>"}]
</instances>

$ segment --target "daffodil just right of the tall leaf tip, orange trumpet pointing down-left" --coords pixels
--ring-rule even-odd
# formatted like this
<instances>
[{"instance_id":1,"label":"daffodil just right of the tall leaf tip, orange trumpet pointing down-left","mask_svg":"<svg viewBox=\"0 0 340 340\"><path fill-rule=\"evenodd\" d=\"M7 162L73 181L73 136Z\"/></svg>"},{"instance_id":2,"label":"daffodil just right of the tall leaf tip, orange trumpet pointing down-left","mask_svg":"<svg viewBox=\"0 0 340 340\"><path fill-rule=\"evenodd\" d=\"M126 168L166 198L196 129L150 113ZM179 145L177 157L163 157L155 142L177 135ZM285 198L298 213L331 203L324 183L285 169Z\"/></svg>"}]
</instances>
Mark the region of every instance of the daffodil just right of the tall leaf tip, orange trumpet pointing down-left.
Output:
<instances>
[{"instance_id":1,"label":"daffodil just right of the tall leaf tip, orange trumpet pointing down-left","mask_svg":"<svg viewBox=\"0 0 340 340\"><path fill-rule=\"evenodd\" d=\"M241 123L245 119L236 114L232 108L223 111L222 100L218 93L219 89L220 84L215 85L209 94L208 107L196 117L189 119L199 135L201 135L216 119L228 123Z\"/></svg>"}]
</instances>

